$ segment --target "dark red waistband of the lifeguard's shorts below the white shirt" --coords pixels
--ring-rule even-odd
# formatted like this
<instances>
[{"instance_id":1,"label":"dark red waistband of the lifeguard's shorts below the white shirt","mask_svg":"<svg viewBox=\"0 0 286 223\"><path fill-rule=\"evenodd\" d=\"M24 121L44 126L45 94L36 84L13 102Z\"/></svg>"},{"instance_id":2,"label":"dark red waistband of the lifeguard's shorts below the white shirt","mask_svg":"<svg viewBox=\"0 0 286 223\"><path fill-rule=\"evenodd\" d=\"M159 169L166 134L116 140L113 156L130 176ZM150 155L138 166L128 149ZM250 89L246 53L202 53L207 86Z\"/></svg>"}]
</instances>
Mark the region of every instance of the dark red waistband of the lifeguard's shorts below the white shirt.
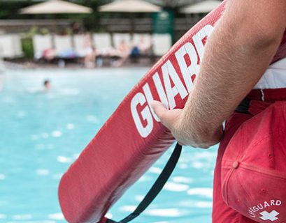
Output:
<instances>
[{"instance_id":1,"label":"dark red waistband of the lifeguard's shorts below the white shirt","mask_svg":"<svg viewBox=\"0 0 286 223\"><path fill-rule=\"evenodd\" d=\"M246 96L252 100L262 100L274 102L276 100L286 100L286 88L283 89L253 89Z\"/></svg>"}]
</instances>

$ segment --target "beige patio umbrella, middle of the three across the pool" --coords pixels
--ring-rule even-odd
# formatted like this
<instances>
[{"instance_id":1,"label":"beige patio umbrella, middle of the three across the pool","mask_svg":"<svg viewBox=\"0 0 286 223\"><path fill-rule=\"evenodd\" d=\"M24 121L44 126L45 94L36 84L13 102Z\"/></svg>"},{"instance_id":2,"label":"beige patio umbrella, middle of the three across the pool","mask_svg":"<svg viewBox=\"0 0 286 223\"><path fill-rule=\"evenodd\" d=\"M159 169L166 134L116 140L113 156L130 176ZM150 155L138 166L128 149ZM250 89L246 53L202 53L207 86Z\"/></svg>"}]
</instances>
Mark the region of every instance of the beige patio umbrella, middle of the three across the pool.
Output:
<instances>
[{"instance_id":1,"label":"beige patio umbrella, middle of the three across the pool","mask_svg":"<svg viewBox=\"0 0 286 223\"><path fill-rule=\"evenodd\" d=\"M99 8L101 12L156 13L162 8L143 0L117 0Z\"/></svg>"}]
</instances>

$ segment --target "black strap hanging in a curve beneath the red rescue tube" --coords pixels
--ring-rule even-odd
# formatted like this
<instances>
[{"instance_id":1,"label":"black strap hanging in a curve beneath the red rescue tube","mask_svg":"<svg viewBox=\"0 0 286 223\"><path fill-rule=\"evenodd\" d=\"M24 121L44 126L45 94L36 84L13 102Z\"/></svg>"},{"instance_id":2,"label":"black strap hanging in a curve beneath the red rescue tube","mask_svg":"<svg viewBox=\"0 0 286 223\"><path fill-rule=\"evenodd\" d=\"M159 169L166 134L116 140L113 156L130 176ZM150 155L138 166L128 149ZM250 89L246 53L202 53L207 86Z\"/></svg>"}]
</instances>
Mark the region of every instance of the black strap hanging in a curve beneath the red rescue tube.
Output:
<instances>
[{"instance_id":1,"label":"black strap hanging in a curve beneath the red rescue tube","mask_svg":"<svg viewBox=\"0 0 286 223\"><path fill-rule=\"evenodd\" d=\"M115 222L113 220L108 220L106 223L127 223L131 222L131 220L134 220L134 218L138 217L143 211L152 203L152 201L157 197L159 192L163 189L164 185L168 181L169 177L173 173L173 170L176 167L176 164L178 163L180 153L182 152L182 146L179 144L176 144L176 147L169 158L166 166L162 170L162 173L159 175L155 183L152 185L151 189L149 190L148 194L144 197L143 201L139 203L136 210L134 210L133 213L125 217L120 222Z\"/></svg>"}]
</instances>

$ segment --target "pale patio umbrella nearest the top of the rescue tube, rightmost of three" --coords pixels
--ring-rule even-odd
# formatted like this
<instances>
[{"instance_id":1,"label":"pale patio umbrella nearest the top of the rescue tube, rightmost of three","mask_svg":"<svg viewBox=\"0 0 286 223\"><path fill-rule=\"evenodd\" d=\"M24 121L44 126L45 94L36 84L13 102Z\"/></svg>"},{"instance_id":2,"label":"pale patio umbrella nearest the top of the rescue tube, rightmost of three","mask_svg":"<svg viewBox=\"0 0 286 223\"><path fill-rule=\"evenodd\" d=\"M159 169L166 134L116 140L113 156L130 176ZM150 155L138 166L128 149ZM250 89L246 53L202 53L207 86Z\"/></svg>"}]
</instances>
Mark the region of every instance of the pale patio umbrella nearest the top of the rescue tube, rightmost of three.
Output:
<instances>
[{"instance_id":1,"label":"pale patio umbrella nearest the top of the rescue tube, rightmost of three","mask_svg":"<svg viewBox=\"0 0 286 223\"><path fill-rule=\"evenodd\" d=\"M199 3L192 4L180 10L180 13L185 14L197 14L197 13L209 13L213 9L217 8L222 1L217 0L207 0L201 1Z\"/></svg>"}]
</instances>

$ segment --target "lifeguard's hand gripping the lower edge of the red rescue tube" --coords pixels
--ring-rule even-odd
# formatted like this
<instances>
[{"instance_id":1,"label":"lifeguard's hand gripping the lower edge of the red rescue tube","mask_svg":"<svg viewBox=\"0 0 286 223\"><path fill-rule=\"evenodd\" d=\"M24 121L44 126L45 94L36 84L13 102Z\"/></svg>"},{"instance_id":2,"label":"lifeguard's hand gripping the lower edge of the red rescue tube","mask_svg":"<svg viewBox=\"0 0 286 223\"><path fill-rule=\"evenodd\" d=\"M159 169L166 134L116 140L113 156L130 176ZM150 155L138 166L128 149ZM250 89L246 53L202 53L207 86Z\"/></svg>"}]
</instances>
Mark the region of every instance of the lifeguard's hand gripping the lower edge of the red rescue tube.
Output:
<instances>
[{"instance_id":1,"label":"lifeguard's hand gripping the lower edge of the red rescue tube","mask_svg":"<svg viewBox=\"0 0 286 223\"><path fill-rule=\"evenodd\" d=\"M152 108L162 124L171 131L181 145L209 148L222 138L222 127L208 132L200 132L194 128L186 129L184 124L187 120L183 109L168 110L158 101L152 102Z\"/></svg>"}]
</instances>

